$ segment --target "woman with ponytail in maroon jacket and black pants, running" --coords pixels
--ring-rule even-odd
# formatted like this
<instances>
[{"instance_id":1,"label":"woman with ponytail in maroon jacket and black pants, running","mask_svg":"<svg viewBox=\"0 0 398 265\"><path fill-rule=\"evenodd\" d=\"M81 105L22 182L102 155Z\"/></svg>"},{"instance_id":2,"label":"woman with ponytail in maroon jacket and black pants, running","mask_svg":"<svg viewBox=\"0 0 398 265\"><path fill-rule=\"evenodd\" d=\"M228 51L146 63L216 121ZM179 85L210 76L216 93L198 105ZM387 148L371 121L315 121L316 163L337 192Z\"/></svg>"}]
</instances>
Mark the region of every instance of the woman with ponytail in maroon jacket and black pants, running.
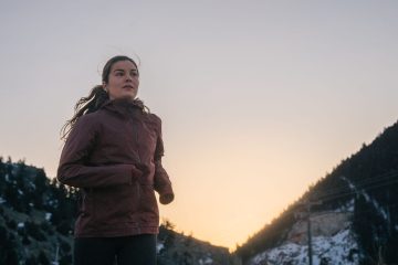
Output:
<instances>
[{"instance_id":1,"label":"woman with ponytail in maroon jacket and black pants, running","mask_svg":"<svg viewBox=\"0 0 398 265\"><path fill-rule=\"evenodd\" d=\"M102 82L63 127L56 178L82 194L74 264L156 264L154 190L160 203L174 200L161 166L161 120L136 98L139 73L132 59L112 57Z\"/></svg>"}]
</instances>

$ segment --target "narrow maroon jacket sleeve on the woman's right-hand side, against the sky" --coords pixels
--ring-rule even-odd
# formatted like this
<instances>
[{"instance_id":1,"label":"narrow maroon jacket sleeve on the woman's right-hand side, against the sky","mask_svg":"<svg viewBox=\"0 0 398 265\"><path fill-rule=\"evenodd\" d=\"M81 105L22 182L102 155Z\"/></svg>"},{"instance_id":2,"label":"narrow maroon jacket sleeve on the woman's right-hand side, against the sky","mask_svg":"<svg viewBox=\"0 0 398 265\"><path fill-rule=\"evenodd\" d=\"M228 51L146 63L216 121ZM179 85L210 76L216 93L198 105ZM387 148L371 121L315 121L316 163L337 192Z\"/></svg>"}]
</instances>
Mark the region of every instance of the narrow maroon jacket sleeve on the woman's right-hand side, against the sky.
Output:
<instances>
[{"instance_id":1,"label":"narrow maroon jacket sleeve on the woman's right-hand side, against the sky","mask_svg":"<svg viewBox=\"0 0 398 265\"><path fill-rule=\"evenodd\" d=\"M174 191L169 176L161 165L161 157L164 156L164 152L165 149L161 139L161 120L160 118L158 118L158 137L157 137L156 150L154 157L154 161L155 161L154 187L155 190L160 195L160 202L163 204L168 204L174 200Z\"/></svg>"}]
</instances>

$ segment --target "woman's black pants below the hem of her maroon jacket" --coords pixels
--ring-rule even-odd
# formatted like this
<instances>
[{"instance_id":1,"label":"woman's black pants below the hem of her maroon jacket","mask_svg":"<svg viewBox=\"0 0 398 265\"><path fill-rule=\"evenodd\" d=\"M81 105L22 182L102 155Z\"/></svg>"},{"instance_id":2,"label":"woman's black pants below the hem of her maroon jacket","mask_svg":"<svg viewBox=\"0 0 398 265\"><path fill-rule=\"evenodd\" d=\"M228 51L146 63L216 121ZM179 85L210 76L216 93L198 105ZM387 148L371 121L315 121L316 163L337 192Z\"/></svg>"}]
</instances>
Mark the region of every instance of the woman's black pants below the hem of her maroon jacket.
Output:
<instances>
[{"instance_id":1,"label":"woman's black pants below the hem of her maroon jacket","mask_svg":"<svg viewBox=\"0 0 398 265\"><path fill-rule=\"evenodd\" d=\"M156 235L75 239L73 264L156 265Z\"/></svg>"}]
</instances>

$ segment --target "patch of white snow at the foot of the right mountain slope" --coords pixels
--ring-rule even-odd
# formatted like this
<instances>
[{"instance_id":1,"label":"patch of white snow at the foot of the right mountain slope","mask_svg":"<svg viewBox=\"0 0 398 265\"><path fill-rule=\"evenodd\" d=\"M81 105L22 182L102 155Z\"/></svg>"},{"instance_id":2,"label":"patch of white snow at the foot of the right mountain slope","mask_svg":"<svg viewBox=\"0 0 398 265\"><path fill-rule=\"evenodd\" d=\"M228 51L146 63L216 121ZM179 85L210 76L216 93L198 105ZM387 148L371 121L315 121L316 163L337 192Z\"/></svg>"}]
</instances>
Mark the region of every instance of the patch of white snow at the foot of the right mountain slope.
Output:
<instances>
[{"instance_id":1,"label":"patch of white snow at the foot of the right mountain slope","mask_svg":"<svg viewBox=\"0 0 398 265\"><path fill-rule=\"evenodd\" d=\"M334 236L312 239L314 265L357 265L358 246L349 229ZM308 264L307 245L285 243L255 255L250 265L305 265Z\"/></svg>"}]
</instances>

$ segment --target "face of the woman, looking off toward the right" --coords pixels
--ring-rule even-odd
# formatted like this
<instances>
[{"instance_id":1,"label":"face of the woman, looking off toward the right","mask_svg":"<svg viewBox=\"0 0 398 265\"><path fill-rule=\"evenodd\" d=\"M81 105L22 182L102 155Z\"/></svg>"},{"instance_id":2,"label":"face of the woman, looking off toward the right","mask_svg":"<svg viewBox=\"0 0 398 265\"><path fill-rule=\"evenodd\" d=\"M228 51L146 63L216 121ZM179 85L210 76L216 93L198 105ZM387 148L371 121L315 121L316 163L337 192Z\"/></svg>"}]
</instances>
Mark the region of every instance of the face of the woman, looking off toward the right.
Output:
<instances>
[{"instance_id":1,"label":"face of the woman, looking off toward the right","mask_svg":"<svg viewBox=\"0 0 398 265\"><path fill-rule=\"evenodd\" d=\"M128 60L114 63L108 75L108 83L103 84L104 89L109 94L109 99L119 97L134 99L137 96L138 85L138 70Z\"/></svg>"}]
</instances>

